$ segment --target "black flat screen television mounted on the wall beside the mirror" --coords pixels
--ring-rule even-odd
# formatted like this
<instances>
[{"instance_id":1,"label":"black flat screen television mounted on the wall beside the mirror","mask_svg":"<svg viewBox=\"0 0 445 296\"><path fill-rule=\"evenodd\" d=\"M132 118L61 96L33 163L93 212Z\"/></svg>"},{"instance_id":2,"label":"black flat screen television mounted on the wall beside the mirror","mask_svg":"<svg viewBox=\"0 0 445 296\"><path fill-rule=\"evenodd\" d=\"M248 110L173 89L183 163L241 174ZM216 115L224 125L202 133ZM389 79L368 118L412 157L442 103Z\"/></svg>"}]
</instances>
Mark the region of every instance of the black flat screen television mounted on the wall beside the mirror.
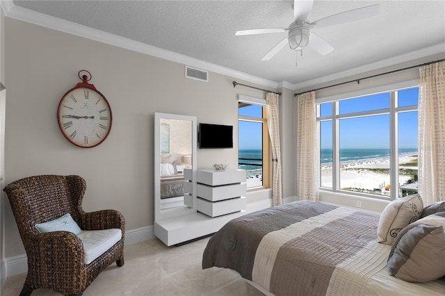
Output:
<instances>
[{"instance_id":1,"label":"black flat screen television mounted on the wall beside the mirror","mask_svg":"<svg viewBox=\"0 0 445 296\"><path fill-rule=\"evenodd\" d=\"M234 127L200 123L197 140L200 148L233 148Z\"/></svg>"}]
</instances>

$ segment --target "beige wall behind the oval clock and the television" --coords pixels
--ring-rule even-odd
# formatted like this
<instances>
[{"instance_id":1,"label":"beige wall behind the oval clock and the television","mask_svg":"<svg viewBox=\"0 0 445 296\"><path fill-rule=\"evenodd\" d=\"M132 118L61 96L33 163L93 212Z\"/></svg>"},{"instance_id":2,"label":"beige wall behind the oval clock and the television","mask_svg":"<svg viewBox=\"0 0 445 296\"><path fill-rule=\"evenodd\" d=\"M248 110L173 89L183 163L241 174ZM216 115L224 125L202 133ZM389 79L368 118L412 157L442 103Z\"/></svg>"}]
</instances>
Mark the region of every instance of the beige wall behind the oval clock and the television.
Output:
<instances>
[{"instance_id":1,"label":"beige wall behind the oval clock and the television","mask_svg":"<svg viewBox=\"0 0 445 296\"><path fill-rule=\"evenodd\" d=\"M197 163L200 168L238 165L236 99L238 94L264 97L264 92L234 88L231 77L212 72L208 83L186 79L179 63L16 19L6 17L5 26L6 183L36 174L79 174L87 183L85 211L115 208L125 216L127 230L151 226L155 112L234 125L235 148L198 149ZM92 149L70 144L56 119L58 102L79 82L81 69L91 72L90 83L113 110L110 135ZM286 90L282 99L292 104L291 92ZM292 195L293 185L288 186L284 192ZM248 202L268 198L268 190L260 191L249 195ZM5 256L24 254L8 202L5 212Z\"/></svg>"}]
</instances>

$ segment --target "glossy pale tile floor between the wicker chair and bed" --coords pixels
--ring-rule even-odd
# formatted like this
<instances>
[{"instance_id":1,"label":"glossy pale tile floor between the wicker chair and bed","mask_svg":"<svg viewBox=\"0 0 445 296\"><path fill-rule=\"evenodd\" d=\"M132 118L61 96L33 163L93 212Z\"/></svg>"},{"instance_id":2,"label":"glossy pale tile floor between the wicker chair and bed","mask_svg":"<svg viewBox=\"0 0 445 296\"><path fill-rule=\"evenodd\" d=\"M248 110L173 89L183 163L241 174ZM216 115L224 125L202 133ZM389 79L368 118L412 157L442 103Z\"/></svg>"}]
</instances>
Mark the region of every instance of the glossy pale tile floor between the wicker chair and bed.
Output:
<instances>
[{"instance_id":1,"label":"glossy pale tile floor between the wicker chair and bed","mask_svg":"<svg viewBox=\"0 0 445 296\"><path fill-rule=\"evenodd\" d=\"M125 264L106 268L83 293L102 295L263 295L230 270L202 270L202 252L209 238L181 247L167 247L157 238L125 246ZM2 296L19 295L26 273L6 279ZM34 290L32 296L60 295Z\"/></svg>"}]
</instances>

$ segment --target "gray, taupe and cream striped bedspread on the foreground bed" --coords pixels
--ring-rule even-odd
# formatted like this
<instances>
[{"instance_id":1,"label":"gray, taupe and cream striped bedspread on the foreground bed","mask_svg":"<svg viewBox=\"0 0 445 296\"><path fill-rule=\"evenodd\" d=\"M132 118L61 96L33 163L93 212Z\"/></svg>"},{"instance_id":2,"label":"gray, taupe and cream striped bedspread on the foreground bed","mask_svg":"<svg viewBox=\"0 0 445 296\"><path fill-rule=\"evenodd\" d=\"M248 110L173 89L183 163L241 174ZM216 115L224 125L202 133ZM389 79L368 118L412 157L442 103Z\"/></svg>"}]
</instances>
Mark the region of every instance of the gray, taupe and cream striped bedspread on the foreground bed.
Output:
<instances>
[{"instance_id":1,"label":"gray, taupe and cream striped bedspread on the foreground bed","mask_svg":"<svg viewBox=\"0 0 445 296\"><path fill-rule=\"evenodd\" d=\"M309 201L238 217L209 240L202 268L229 268L274 295L444 295L445 279L389 275L380 214Z\"/></svg>"}]
</instances>

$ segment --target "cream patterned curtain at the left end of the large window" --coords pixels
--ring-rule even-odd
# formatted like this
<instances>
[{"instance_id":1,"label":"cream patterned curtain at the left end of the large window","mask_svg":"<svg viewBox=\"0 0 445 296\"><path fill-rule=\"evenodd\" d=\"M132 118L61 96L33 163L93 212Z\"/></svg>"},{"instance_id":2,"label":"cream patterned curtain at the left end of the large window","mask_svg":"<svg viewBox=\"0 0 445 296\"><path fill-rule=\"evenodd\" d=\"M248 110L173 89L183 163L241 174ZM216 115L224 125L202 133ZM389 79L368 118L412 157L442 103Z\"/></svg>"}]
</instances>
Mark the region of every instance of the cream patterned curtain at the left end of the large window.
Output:
<instances>
[{"instance_id":1,"label":"cream patterned curtain at the left end of the large window","mask_svg":"<svg viewBox=\"0 0 445 296\"><path fill-rule=\"evenodd\" d=\"M320 151L318 151L315 92L297 97L297 197L319 200Z\"/></svg>"}]
</instances>

